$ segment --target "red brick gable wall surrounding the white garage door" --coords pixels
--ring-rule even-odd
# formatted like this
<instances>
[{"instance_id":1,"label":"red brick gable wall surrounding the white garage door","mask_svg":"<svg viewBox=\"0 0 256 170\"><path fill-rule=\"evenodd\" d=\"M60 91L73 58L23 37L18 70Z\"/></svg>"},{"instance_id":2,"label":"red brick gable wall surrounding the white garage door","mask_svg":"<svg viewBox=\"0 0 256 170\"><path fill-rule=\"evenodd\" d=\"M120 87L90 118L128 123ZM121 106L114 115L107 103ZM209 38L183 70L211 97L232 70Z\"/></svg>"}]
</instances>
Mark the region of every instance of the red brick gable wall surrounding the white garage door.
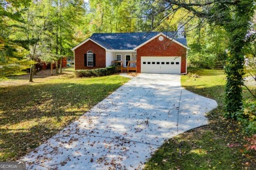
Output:
<instances>
[{"instance_id":1,"label":"red brick gable wall surrounding the white garage door","mask_svg":"<svg viewBox=\"0 0 256 170\"><path fill-rule=\"evenodd\" d=\"M181 73L186 73L186 48L164 37L160 41L158 37L137 49L137 72L141 72L142 56L181 56Z\"/></svg>"}]
</instances>

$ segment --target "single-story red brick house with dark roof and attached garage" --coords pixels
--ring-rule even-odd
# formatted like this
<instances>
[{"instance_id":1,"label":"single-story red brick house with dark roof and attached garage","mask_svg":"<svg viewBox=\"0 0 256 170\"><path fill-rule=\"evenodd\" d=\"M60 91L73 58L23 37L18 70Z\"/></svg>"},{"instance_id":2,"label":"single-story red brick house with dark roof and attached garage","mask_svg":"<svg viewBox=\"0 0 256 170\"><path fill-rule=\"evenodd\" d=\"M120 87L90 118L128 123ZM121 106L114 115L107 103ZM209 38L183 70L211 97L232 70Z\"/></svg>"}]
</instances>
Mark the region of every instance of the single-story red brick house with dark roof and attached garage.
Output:
<instances>
[{"instance_id":1,"label":"single-story red brick house with dark roof and attached garage","mask_svg":"<svg viewBox=\"0 0 256 170\"><path fill-rule=\"evenodd\" d=\"M94 33L72 50L75 70L96 69L129 61L137 73L186 74L186 37L184 27L174 32Z\"/></svg>"}]
</instances>

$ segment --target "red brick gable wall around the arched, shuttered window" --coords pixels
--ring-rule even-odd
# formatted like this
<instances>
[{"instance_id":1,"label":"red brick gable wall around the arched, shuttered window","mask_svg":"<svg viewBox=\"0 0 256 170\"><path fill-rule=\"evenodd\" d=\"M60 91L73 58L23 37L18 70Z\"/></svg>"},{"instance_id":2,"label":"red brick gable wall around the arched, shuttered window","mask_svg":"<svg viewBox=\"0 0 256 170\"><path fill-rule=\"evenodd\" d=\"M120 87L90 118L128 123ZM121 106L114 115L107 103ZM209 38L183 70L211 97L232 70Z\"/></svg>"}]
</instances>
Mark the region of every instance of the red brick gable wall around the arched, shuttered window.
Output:
<instances>
[{"instance_id":1,"label":"red brick gable wall around the arched, shuttered window","mask_svg":"<svg viewBox=\"0 0 256 170\"><path fill-rule=\"evenodd\" d=\"M91 50L95 54L96 66L95 67L85 67L85 57L84 54ZM95 44L95 42L89 40L85 44L79 46L74 50L75 53L75 69L97 69L106 67L106 50L101 46Z\"/></svg>"}]
</instances>

